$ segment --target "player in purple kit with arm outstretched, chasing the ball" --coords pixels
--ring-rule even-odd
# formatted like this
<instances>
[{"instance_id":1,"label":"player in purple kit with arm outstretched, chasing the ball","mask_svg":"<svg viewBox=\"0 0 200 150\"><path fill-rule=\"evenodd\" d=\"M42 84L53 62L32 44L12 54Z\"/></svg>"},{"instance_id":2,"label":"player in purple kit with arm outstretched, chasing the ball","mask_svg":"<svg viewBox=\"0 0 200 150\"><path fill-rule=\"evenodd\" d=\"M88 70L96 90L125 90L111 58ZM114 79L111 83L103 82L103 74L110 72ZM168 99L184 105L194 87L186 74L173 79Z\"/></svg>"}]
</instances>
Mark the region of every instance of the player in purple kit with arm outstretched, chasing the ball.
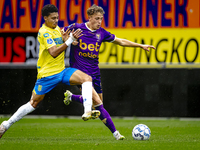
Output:
<instances>
[{"instance_id":1,"label":"player in purple kit with arm outstretched, chasing the ball","mask_svg":"<svg viewBox=\"0 0 200 150\"><path fill-rule=\"evenodd\" d=\"M140 47L146 51L149 51L148 48L155 49L155 47L117 38L114 34L106 31L101 27L104 13L105 12L102 7L94 4L87 10L89 17L88 22L80 24L74 23L68 27L64 27L63 30L76 30L80 28L83 31L83 36L81 36L76 43L72 43L71 47L69 47L70 67L77 68L92 77L93 87L96 91L93 92L93 107L101 112L99 118L110 129L110 131L113 133L113 136L117 140L123 140L125 137L116 130L109 113L103 107L101 77L98 66L99 48L102 42L112 42L124 47ZM69 105L71 101L83 103L83 98L81 95L74 95L68 90L64 93L64 95L64 103L66 105ZM101 100L100 103L99 99Z\"/></svg>"}]
</instances>

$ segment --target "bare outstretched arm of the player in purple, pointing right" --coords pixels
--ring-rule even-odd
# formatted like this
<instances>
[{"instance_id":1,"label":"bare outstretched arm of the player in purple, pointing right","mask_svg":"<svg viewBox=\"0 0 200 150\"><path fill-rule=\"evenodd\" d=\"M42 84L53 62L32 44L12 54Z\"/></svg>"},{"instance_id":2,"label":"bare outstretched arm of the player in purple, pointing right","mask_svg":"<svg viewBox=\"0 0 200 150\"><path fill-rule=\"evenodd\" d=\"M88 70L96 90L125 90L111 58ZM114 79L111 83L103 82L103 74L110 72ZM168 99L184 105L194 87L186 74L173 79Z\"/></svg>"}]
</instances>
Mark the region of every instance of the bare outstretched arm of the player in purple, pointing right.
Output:
<instances>
[{"instance_id":1,"label":"bare outstretched arm of the player in purple, pointing right","mask_svg":"<svg viewBox=\"0 0 200 150\"><path fill-rule=\"evenodd\" d=\"M113 42L114 44L123 46L123 47L140 47L146 51L149 51L149 48L153 48L156 49L154 46L152 45L144 45L144 44L138 44L138 43L134 43L132 41L126 40L126 39L121 39L121 38L115 38L115 41Z\"/></svg>"}]
</instances>

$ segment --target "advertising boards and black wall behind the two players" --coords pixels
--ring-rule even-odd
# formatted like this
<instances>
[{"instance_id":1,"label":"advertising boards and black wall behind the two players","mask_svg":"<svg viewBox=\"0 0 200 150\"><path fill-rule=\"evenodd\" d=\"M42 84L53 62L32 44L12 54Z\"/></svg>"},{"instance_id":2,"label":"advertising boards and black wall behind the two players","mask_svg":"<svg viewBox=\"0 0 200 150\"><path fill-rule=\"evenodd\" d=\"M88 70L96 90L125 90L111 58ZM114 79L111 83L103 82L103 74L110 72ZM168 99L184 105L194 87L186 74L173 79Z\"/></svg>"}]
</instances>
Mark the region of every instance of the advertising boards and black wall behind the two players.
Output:
<instances>
[{"instance_id":1,"label":"advertising boards and black wall behind the two players","mask_svg":"<svg viewBox=\"0 0 200 150\"><path fill-rule=\"evenodd\" d=\"M37 32L46 4L59 9L59 26L87 21L92 4L105 11L102 27L117 37L151 44L156 50L104 43L99 61L104 107L111 116L200 117L200 0L1 0L0 114L12 114L30 100L37 69ZM66 66L69 65L66 51ZM46 94L36 115L82 115L65 106L59 84Z\"/></svg>"}]
</instances>

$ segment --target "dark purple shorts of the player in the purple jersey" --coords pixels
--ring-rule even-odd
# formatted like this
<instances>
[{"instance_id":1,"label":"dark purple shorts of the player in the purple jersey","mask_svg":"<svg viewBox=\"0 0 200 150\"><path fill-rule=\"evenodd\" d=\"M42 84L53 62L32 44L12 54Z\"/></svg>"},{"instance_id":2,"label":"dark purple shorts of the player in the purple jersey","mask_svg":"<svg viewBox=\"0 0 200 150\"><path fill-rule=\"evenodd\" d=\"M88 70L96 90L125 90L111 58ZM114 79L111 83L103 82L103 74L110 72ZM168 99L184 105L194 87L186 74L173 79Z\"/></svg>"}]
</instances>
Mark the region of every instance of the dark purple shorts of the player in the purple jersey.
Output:
<instances>
[{"instance_id":1,"label":"dark purple shorts of the player in the purple jersey","mask_svg":"<svg viewBox=\"0 0 200 150\"><path fill-rule=\"evenodd\" d=\"M101 76L100 75L92 76L92 85L98 94L102 93ZM81 89L81 85L78 85L78 87Z\"/></svg>"}]
</instances>

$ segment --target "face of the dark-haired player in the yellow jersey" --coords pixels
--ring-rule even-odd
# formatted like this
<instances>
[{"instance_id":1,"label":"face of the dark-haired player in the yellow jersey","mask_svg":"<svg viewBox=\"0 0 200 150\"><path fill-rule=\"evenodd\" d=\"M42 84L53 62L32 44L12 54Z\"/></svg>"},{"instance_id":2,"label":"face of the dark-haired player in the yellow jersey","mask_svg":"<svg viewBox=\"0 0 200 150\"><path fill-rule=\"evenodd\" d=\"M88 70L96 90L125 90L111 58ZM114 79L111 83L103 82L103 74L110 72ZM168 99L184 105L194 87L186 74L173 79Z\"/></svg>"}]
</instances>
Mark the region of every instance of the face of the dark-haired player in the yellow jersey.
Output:
<instances>
[{"instance_id":1,"label":"face of the dark-haired player in the yellow jersey","mask_svg":"<svg viewBox=\"0 0 200 150\"><path fill-rule=\"evenodd\" d=\"M58 17L59 16L57 12L50 13L49 16L45 16L45 25L52 29L56 28L56 26L58 25Z\"/></svg>"}]
</instances>

